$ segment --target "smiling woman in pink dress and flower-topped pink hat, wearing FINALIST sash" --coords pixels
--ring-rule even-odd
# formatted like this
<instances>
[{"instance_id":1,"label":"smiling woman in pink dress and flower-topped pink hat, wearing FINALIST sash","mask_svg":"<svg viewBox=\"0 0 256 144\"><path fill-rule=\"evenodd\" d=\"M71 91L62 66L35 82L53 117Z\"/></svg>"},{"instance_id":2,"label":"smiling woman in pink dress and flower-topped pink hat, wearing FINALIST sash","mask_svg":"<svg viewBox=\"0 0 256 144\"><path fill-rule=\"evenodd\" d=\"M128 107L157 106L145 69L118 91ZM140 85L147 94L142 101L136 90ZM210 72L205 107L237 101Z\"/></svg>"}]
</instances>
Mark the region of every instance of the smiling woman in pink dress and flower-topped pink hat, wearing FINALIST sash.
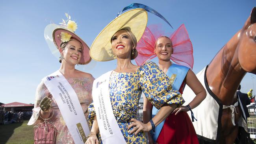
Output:
<instances>
[{"instance_id":1,"label":"smiling woman in pink dress and flower-topped pink hat, wearing FINALIST sash","mask_svg":"<svg viewBox=\"0 0 256 144\"><path fill-rule=\"evenodd\" d=\"M68 20L63 20L61 26L49 24L45 28L45 40L52 51L57 47L61 66L38 85L33 115L28 122L35 125L49 118L47 122L57 129L57 144L84 143L77 138L76 124L80 123L85 133L89 131L85 116L92 102L94 81L91 74L75 69L75 65L89 63L91 57L87 44L74 33L76 23L66 16ZM40 141L41 133L35 132L35 141ZM81 133L80 136L83 137Z\"/></svg>"}]
</instances>

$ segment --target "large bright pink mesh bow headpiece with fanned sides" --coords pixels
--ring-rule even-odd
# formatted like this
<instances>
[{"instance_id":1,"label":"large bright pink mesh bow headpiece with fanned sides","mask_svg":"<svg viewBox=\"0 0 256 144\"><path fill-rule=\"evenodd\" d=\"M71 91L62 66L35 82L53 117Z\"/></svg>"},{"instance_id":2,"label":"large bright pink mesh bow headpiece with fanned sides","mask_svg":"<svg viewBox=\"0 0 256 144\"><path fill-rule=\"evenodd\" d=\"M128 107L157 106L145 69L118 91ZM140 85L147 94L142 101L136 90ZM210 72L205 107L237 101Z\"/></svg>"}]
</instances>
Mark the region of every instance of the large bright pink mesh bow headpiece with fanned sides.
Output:
<instances>
[{"instance_id":1,"label":"large bright pink mesh bow headpiece with fanned sides","mask_svg":"<svg viewBox=\"0 0 256 144\"><path fill-rule=\"evenodd\" d=\"M138 51L138 56L135 59L137 65L143 65L145 62L156 57L156 54L154 54L155 43L158 37L161 36L163 36L163 31L159 30L157 25L148 26L145 29L136 47ZM185 25L182 24L169 38L173 43L171 60L178 65L187 66L192 69L194 63L193 46Z\"/></svg>"}]
</instances>

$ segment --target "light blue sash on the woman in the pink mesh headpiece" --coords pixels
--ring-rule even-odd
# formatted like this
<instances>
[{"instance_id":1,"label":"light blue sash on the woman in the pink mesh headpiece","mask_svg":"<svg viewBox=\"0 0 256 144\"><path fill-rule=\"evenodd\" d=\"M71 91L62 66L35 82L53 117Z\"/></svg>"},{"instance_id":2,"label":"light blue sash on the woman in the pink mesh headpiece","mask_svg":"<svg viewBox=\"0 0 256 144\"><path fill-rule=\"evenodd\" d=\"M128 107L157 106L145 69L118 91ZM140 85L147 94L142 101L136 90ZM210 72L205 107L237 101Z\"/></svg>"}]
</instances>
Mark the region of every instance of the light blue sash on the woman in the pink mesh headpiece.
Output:
<instances>
[{"instance_id":1,"label":"light blue sash on the woman in the pink mesh headpiece","mask_svg":"<svg viewBox=\"0 0 256 144\"><path fill-rule=\"evenodd\" d=\"M171 85L174 90L180 89L180 86L182 85L182 82L184 81L184 78L186 77L188 70L189 70L188 67L176 65L176 64L172 64L169 67L166 74L171 79L171 81L172 81ZM158 111L159 110L156 109L156 107L153 107L152 118L158 113ZM163 128L164 123L165 123L165 120L163 120L163 122L161 122L158 126L155 127L155 133L154 133L154 135L152 135L154 142L156 142L156 140Z\"/></svg>"}]
</instances>

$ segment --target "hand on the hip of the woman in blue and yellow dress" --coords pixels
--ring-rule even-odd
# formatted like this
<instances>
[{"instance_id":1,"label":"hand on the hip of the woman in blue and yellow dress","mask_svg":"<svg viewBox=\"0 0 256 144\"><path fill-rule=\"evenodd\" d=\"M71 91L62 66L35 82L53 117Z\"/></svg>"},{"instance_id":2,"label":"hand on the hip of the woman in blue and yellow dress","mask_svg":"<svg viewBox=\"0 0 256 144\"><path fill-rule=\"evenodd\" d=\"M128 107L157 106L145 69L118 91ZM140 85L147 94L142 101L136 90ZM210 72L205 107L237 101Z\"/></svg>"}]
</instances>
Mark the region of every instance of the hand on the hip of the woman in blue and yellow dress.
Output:
<instances>
[{"instance_id":1,"label":"hand on the hip of the woman in blue and yellow dress","mask_svg":"<svg viewBox=\"0 0 256 144\"><path fill-rule=\"evenodd\" d=\"M136 120L135 118L132 118L129 122L132 122L132 124L128 126L127 130L133 127L133 129L129 132L130 134L135 132L134 135L137 135L140 131L144 131L144 132L150 131L147 124L143 124L141 121Z\"/></svg>"}]
</instances>

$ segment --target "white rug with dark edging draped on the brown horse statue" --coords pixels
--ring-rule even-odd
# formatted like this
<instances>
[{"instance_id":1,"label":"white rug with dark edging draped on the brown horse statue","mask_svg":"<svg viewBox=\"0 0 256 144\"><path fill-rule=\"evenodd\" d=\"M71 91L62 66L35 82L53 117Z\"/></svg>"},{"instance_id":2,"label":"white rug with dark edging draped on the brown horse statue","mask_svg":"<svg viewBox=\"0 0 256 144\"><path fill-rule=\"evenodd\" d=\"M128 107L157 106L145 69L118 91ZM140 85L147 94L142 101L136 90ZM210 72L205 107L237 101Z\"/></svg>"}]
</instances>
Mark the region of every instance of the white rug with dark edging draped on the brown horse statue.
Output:
<instances>
[{"instance_id":1,"label":"white rug with dark edging draped on the brown horse statue","mask_svg":"<svg viewBox=\"0 0 256 144\"><path fill-rule=\"evenodd\" d=\"M238 103L234 104L234 106L225 106L219 101L219 99L215 96L215 94L213 94L213 92L211 92L210 88L208 87L205 75L206 69L207 67L205 67L196 75L199 81L204 86L204 89L206 89L207 95L202 103L200 103L200 105L193 109L194 116L195 118L197 118L197 121L193 122L193 125L195 127L198 138L215 143L219 141L218 133L221 130L222 109L231 107L230 109L233 109L233 112L234 108L232 107L237 106ZM184 105L189 104L193 100L193 98L195 98L194 92L189 87L185 87L182 96L186 101ZM241 103L239 104L241 105ZM242 112L243 115L243 109ZM191 118L190 111L188 111L187 113ZM235 111L233 113L235 113ZM244 127L245 131L248 133L247 123L243 118L239 120L239 126Z\"/></svg>"}]
</instances>

